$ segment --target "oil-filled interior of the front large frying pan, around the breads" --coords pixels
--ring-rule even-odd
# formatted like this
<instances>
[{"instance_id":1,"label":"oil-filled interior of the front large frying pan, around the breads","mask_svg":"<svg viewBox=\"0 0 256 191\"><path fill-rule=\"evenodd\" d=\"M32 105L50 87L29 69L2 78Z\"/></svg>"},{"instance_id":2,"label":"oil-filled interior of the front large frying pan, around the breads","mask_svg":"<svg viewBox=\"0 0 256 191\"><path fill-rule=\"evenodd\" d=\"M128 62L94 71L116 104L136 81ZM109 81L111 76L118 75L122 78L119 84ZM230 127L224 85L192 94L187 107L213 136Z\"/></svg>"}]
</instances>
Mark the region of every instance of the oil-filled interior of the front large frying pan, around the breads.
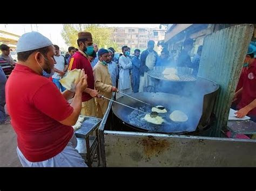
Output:
<instances>
[{"instance_id":1,"label":"oil-filled interior of the front large frying pan, around the breads","mask_svg":"<svg viewBox=\"0 0 256 191\"><path fill-rule=\"evenodd\" d=\"M165 119L165 122L161 125L154 125L146 122L142 112L124 107L123 105L113 103L112 111L119 119L135 129L141 129L148 132L161 132L161 133L181 133L195 131L199 120L202 116L203 110L203 97L198 97L197 101L178 95L166 94L166 93L134 93L131 96L138 98L144 102L152 105L163 105L167 108L167 114L161 115ZM117 99L118 102L129 105L133 108L143 108L150 112L151 108L147 105L133 100L129 97L123 96ZM169 118L169 115L174 110L183 111L188 120L186 122L173 122ZM137 113L136 113L136 112ZM135 113L134 113L135 112Z\"/></svg>"}]
</instances>

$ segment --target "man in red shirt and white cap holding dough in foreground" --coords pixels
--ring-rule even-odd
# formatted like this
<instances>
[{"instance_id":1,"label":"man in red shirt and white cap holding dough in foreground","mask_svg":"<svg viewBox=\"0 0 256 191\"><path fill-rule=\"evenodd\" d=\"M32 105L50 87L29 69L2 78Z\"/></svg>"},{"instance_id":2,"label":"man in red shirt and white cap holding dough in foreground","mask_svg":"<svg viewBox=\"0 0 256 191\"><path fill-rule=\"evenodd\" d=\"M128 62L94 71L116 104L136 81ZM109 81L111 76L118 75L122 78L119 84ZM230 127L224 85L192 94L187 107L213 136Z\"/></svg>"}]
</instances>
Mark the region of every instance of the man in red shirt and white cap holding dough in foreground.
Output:
<instances>
[{"instance_id":1,"label":"man in red shirt and white cap holding dough in foreground","mask_svg":"<svg viewBox=\"0 0 256 191\"><path fill-rule=\"evenodd\" d=\"M17 43L18 63L6 83L6 105L17 133L17 153L25 167L86 167L76 147L75 125L81 110L86 76L74 95L62 93L49 79L54 64L51 41L38 32L23 34Z\"/></svg>"}]
</instances>

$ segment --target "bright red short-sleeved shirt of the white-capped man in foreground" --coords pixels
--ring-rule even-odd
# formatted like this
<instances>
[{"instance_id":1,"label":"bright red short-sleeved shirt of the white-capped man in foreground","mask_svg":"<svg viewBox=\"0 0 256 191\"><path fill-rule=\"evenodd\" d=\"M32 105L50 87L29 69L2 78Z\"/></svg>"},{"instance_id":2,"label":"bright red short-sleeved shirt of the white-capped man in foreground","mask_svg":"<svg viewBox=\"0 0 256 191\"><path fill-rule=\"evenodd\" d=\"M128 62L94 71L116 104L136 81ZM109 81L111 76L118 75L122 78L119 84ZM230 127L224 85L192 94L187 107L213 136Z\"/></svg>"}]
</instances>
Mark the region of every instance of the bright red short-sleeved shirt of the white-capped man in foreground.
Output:
<instances>
[{"instance_id":1,"label":"bright red short-sleeved shirt of the white-capped man in foreground","mask_svg":"<svg viewBox=\"0 0 256 191\"><path fill-rule=\"evenodd\" d=\"M6 105L17 133L18 147L31 162L62 152L73 136L72 126L58 121L73 108L49 79L17 64L6 83Z\"/></svg>"}]
</instances>

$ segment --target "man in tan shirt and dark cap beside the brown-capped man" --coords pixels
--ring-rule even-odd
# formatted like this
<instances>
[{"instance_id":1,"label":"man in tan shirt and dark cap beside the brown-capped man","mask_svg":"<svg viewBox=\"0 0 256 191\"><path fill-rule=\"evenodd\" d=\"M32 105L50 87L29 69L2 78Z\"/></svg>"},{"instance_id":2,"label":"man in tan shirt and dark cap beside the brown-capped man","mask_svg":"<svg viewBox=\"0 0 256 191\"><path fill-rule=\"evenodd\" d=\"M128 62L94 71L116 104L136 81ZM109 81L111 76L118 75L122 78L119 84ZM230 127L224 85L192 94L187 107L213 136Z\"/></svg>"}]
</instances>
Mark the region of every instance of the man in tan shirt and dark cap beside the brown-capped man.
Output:
<instances>
[{"instance_id":1,"label":"man in tan shirt and dark cap beside the brown-capped man","mask_svg":"<svg viewBox=\"0 0 256 191\"><path fill-rule=\"evenodd\" d=\"M95 77L95 89L100 95L104 97L111 98L112 92L116 92L117 88L112 86L112 80L110 77L108 62L110 62L111 55L107 49L101 48L98 52L99 61L96 66L93 68L93 75ZM115 63L114 63L115 64ZM98 117L103 118L109 100L98 98L96 99Z\"/></svg>"}]
</instances>

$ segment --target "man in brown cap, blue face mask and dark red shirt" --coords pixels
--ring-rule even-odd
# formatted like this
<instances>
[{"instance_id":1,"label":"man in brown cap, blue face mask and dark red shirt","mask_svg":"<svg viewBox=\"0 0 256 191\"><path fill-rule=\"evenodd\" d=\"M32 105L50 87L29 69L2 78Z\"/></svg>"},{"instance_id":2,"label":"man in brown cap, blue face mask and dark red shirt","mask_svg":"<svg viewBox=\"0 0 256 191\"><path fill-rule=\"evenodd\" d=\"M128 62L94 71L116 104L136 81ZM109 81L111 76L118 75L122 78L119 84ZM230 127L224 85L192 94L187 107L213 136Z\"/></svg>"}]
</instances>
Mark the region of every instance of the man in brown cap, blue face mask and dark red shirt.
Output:
<instances>
[{"instance_id":1,"label":"man in brown cap, blue face mask and dark red shirt","mask_svg":"<svg viewBox=\"0 0 256 191\"><path fill-rule=\"evenodd\" d=\"M69 62L69 70L84 69L87 74L88 87L85 89L82 97L81 115L97 117L95 98L98 96L95 90L95 80L93 77L93 70L88 56L93 55L93 42L90 32L79 32L77 45L79 50L72 56Z\"/></svg>"}]
</instances>

